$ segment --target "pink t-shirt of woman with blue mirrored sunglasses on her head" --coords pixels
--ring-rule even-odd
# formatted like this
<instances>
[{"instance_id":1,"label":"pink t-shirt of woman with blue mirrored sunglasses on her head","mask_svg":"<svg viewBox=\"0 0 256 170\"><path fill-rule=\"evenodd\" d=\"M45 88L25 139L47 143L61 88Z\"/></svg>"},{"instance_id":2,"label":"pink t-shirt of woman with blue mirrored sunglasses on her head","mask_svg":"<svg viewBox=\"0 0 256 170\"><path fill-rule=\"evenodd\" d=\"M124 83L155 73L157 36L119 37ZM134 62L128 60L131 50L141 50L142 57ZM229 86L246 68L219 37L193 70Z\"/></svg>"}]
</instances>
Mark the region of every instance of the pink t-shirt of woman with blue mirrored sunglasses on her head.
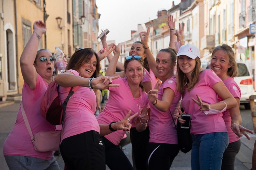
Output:
<instances>
[{"instance_id":1,"label":"pink t-shirt of woman with blue mirrored sunglasses on her head","mask_svg":"<svg viewBox=\"0 0 256 170\"><path fill-rule=\"evenodd\" d=\"M118 78L112 81L114 84L120 84L120 87L111 88L109 87L109 97L105 108L97 116L99 124L109 124L113 121L122 120L129 110L132 110L130 116L138 112L140 114L139 106L142 109L144 104L148 105L148 96L145 92L142 92L140 88L140 97L134 99L132 92L129 89L128 81L125 78ZM139 114L134 117L129 123L132 127L135 127L136 118ZM106 136L110 142L118 145L120 140L124 137L126 131L115 131Z\"/></svg>"}]
</instances>

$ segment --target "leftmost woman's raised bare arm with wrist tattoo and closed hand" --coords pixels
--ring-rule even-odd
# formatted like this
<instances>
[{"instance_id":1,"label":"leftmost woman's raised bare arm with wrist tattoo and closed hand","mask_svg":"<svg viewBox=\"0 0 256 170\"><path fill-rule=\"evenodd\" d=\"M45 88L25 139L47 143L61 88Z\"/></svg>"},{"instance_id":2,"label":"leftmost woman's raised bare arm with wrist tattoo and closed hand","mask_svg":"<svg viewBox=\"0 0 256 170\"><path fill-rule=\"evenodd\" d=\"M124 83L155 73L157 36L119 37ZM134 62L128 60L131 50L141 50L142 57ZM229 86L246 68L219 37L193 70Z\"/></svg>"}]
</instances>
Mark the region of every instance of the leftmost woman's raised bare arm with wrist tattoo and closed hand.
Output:
<instances>
[{"instance_id":1,"label":"leftmost woman's raised bare arm with wrist tattoo and closed hand","mask_svg":"<svg viewBox=\"0 0 256 170\"><path fill-rule=\"evenodd\" d=\"M37 73L34 67L36 52L42 35L46 32L46 26L42 21L36 21L33 25L33 34L20 56L20 68L24 81L30 89L36 88Z\"/></svg>"}]
</instances>

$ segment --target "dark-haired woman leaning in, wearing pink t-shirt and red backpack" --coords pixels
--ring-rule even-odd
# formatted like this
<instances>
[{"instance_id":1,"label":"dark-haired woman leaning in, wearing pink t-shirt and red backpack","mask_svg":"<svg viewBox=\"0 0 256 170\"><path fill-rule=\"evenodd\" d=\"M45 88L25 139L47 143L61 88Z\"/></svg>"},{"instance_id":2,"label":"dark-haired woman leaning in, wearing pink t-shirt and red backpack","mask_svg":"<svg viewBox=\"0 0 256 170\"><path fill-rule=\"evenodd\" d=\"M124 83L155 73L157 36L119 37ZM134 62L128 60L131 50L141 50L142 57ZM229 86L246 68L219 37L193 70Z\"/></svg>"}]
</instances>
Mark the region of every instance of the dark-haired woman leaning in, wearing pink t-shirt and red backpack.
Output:
<instances>
[{"instance_id":1,"label":"dark-haired woman leaning in, wearing pink t-shirt and red backpack","mask_svg":"<svg viewBox=\"0 0 256 170\"><path fill-rule=\"evenodd\" d=\"M104 51L102 52L105 53ZM137 113L133 113L129 117L129 112L118 122L114 122L116 119L104 124L97 122L94 116L96 96L92 91L97 84L91 83L99 74L99 62L99 57L92 48L80 49L71 56L65 73L55 77L56 83L60 85L61 102L64 102L71 87L79 86L68 101L61 136L60 152L68 169L105 169L104 147L100 136L116 130L129 131L132 126L129 120L137 116ZM112 84L112 81L118 77L103 77L105 81L100 84L100 89L115 89L119 85Z\"/></svg>"}]
</instances>

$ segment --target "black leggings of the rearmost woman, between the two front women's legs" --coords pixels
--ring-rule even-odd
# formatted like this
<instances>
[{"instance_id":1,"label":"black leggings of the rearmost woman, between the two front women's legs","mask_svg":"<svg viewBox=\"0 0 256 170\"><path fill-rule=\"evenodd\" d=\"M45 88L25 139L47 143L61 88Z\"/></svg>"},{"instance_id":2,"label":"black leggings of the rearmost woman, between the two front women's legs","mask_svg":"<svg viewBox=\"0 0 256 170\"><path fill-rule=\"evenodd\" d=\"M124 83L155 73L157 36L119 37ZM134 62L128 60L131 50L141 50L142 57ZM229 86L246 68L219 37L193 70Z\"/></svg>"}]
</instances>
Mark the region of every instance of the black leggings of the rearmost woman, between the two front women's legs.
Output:
<instances>
[{"instance_id":1,"label":"black leggings of the rearmost woman, between the two front women's legs","mask_svg":"<svg viewBox=\"0 0 256 170\"><path fill-rule=\"evenodd\" d=\"M147 127L146 130L142 132L138 132L136 128L131 128L132 151L137 170L148 169L148 141L149 127Z\"/></svg>"}]
</instances>

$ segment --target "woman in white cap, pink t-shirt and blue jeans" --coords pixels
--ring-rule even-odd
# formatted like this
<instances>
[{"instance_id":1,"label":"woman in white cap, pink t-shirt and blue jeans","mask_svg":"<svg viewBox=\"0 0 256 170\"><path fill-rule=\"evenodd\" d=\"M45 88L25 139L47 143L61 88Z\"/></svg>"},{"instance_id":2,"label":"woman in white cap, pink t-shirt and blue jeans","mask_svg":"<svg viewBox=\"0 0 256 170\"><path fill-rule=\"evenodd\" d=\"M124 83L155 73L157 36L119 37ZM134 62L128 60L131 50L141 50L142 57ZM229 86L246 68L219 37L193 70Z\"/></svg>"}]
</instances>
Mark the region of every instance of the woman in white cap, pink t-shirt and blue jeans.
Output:
<instances>
[{"instance_id":1,"label":"woman in white cap, pink t-shirt and blue jeans","mask_svg":"<svg viewBox=\"0 0 256 170\"><path fill-rule=\"evenodd\" d=\"M201 70L200 52L196 46L181 46L177 57L177 90L182 94L184 113L191 114L192 170L221 169L222 156L228 146L222 112L236 107L237 102L211 69ZM223 102L218 102L217 95ZM184 121L179 118L180 123Z\"/></svg>"}]
</instances>

